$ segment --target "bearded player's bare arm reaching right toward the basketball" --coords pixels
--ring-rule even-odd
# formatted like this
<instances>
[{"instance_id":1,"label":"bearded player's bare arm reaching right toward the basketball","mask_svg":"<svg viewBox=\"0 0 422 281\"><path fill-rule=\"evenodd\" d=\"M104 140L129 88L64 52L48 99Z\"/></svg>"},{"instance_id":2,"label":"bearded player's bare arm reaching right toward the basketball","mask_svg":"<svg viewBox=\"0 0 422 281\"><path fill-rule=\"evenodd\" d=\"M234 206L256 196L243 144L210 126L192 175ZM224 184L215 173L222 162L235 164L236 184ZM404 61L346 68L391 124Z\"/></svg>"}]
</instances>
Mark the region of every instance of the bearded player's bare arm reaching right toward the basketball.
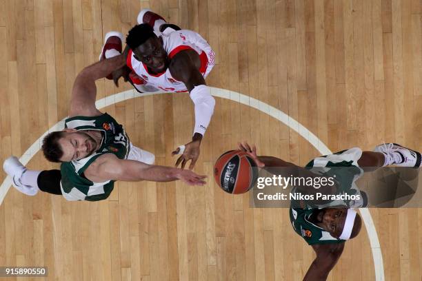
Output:
<instances>
[{"instance_id":1,"label":"bearded player's bare arm reaching right toward the basketball","mask_svg":"<svg viewBox=\"0 0 422 281\"><path fill-rule=\"evenodd\" d=\"M85 176L96 183L103 183L107 180L150 180L156 182L182 180L188 185L205 184L205 176L199 176L193 171L148 165L135 160L123 160L117 158L114 154L104 154L97 158L86 169Z\"/></svg>"}]
</instances>

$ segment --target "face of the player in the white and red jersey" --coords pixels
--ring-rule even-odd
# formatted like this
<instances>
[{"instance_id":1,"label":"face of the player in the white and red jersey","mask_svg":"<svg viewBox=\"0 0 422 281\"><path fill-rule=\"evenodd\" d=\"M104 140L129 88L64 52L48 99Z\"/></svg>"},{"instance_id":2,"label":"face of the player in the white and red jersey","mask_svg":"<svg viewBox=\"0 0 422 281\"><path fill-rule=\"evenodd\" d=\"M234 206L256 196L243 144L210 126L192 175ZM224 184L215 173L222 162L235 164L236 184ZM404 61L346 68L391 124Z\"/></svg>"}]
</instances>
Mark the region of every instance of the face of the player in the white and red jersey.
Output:
<instances>
[{"instance_id":1,"label":"face of the player in the white and red jersey","mask_svg":"<svg viewBox=\"0 0 422 281\"><path fill-rule=\"evenodd\" d=\"M168 67L168 57L161 38L151 37L133 52L135 59L144 63L155 73L163 72Z\"/></svg>"}]
</instances>

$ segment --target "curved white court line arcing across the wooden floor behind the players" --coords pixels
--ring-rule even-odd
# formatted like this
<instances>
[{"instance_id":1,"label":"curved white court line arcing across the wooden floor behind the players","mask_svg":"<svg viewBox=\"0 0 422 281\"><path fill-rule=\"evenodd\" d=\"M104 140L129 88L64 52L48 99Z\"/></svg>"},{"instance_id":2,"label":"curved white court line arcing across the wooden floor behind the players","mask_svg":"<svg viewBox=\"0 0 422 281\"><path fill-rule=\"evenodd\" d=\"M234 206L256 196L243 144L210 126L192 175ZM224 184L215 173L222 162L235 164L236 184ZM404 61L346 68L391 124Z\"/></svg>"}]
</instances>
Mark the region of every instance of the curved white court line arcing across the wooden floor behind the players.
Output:
<instances>
[{"instance_id":1,"label":"curved white court line arcing across the wooden floor behind the players","mask_svg":"<svg viewBox=\"0 0 422 281\"><path fill-rule=\"evenodd\" d=\"M220 98L226 98L231 101L235 101L237 103L241 103L243 105L248 105L249 107L254 107L257 110L268 114L272 116L273 118L277 119L278 121L281 121L281 123L284 123L290 129L293 129L295 132L297 132L300 136L305 138L306 141L308 141L312 146L315 147L316 150L321 153L321 155L327 155L332 154L330 149L312 132L310 132L306 127L301 125L301 123L294 120L294 118L291 118L288 116L288 114L285 114L281 110L278 110L275 107L272 107L271 105L268 105L267 103L263 103L262 101L258 101L255 98L251 98L249 96L245 96L244 94L240 94L238 92L232 92L229 90L224 90L216 87L210 87L211 88L211 94L213 96L217 96ZM136 92L135 90L128 90L125 92L120 92L118 94L114 94L112 96L107 96L106 98L101 98L101 100L97 101L95 105L99 110L101 108L106 107L108 105L113 105L114 103L119 103L121 101L128 100L130 98L137 98L139 96L151 96L153 94L166 94L168 92L149 92L140 94L139 92ZM26 150L26 152L19 158L21 163L23 165L28 164L28 162L31 160L31 158L39 152L39 149L41 149L41 143L43 140L43 137L46 136L49 132L58 131L63 129L64 127L64 120L59 121L56 125L52 126L48 132L45 132L42 136L35 141L30 148ZM10 188L10 185L12 185L12 180L9 176L7 176L3 183L0 185L0 205L3 202L3 199L6 197L6 194L8 193L8 190ZM374 270L375 270L375 280L376 281L384 281L384 264L383 264L383 256L381 254L381 245L379 244L378 235L376 233L375 225L372 220L372 216L370 214L370 211L368 208L362 208L360 209L361 216L363 218L363 222L365 223L366 231L368 232L368 238L370 240L371 249L372 249L372 258L374 259Z\"/></svg>"}]
</instances>

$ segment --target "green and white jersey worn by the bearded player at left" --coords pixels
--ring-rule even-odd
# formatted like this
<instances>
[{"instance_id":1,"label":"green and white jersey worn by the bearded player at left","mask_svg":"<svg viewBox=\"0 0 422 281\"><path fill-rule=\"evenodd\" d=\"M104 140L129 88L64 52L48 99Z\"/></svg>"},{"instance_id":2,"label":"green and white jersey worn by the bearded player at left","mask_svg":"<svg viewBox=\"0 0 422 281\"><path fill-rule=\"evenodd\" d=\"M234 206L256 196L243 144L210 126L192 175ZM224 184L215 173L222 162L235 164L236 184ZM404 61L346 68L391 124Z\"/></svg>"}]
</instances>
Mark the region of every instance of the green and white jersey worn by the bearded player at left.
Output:
<instances>
[{"instance_id":1,"label":"green and white jersey worn by the bearded player at left","mask_svg":"<svg viewBox=\"0 0 422 281\"><path fill-rule=\"evenodd\" d=\"M114 187L114 180L104 183L93 183L83 172L99 156L112 153L120 159L128 158L130 141L123 126L108 114L101 116L74 116L67 118L65 128L82 130L96 130L103 138L99 149L81 160L73 160L61 164L61 192L67 200L104 200L110 196Z\"/></svg>"}]
</instances>

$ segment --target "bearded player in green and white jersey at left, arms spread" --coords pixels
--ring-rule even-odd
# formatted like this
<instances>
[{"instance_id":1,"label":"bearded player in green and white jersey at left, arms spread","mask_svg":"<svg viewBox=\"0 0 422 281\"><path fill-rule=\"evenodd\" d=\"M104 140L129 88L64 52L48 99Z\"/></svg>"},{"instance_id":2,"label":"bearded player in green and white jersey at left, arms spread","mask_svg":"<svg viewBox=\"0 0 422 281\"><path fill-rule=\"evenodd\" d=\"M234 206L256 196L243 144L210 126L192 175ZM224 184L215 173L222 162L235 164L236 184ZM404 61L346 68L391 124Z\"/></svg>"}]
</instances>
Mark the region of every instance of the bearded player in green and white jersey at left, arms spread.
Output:
<instances>
[{"instance_id":1,"label":"bearded player in green and white jersey at left, arms spread","mask_svg":"<svg viewBox=\"0 0 422 281\"><path fill-rule=\"evenodd\" d=\"M112 116L95 107L95 81L125 65L123 55L84 68L74 81L69 118L65 129L48 134L43 153L61 169L34 171L12 156L3 169L19 191L35 195L39 190L62 194L67 200L103 200L110 195L115 180L172 181L203 185L205 176L193 171L152 165L154 155L135 147Z\"/></svg>"}]
</instances>

